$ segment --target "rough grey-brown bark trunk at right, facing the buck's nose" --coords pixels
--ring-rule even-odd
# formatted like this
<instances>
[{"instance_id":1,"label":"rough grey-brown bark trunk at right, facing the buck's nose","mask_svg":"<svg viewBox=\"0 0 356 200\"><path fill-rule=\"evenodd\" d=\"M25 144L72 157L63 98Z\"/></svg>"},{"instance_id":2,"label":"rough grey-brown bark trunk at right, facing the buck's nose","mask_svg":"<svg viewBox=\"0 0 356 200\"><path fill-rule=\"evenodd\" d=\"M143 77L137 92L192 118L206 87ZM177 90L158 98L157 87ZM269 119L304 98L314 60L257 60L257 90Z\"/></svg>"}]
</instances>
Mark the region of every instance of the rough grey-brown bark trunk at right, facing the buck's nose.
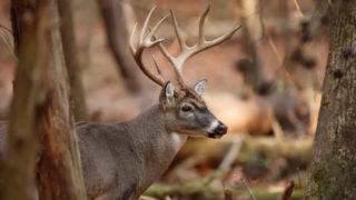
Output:
<instances>
[{"instance_id":1,"label":"rough grey-brown bark trunk at right, facing the buck's nose","mask_svg":"<svg viewBox=\"0 0 356 200\"><path fill-rule=\"evenodd\" d=\"M306 199L356 199L356 1L333 1L330 44Z\"/></svg>"}]
</instances>

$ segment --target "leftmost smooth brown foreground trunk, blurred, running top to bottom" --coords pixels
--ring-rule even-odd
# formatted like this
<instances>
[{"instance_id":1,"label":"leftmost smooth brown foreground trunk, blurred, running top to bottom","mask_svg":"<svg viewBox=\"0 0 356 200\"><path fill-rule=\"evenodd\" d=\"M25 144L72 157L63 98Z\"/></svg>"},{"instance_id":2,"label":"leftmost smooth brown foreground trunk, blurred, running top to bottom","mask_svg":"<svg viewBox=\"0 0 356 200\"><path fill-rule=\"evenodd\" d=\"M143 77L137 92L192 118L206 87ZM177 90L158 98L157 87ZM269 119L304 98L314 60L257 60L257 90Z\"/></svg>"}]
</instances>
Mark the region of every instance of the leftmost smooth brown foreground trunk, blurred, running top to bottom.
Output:
<instances>
[{"instance_id":1,"label":"leftmost smooth brown foreground trunk, blurred, running top to bottom","mask_svg":"<svg viewBox=\"0 0 356 200\"><path fill-rule=\"evenodd\" d=\"M42 103L48 47L49 1L13 0L11 22L19 63L7 136L7 162L1 186L3 200L36 199L38 124L36 110Z\"/></svg>"}]
</instances>

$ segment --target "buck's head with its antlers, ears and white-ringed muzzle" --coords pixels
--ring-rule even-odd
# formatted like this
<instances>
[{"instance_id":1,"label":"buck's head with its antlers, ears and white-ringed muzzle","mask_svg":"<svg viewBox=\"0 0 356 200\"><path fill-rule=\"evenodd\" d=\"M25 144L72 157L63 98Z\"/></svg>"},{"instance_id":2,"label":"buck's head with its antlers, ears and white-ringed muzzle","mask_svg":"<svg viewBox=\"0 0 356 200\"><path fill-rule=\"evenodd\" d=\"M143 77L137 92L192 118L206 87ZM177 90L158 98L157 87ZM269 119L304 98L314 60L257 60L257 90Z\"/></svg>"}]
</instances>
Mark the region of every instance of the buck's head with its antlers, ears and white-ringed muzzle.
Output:
<instances>
[{"instance_id":1,"label":"buck's head with its antlers, ears and white-ringed muzzle","mask_svg":"<svg viewBox=\"0 0 356 200\"><path fill-rule=\"evenodd\" d=\"M207 84L207 80L199 81L192 87L187 86L182 78L182 67L190 57L231 38L231 36L240 28L240 26L234 27L229 32L215 40L205 40L204 23L210 9L210 7L208 7L200 16L198 42L192 47L188 47L182 39L176 16L174 11L170 10L175 32L181 51L178 57L172 57L161 43L165 39L157 39L155 37L158 28L169 17L169 14L160 19L157 24L149 29L149 32L146 33L148 30L149 20L155 9L156 7L154 7L148 13L136 46L134 44L134 36L137 29L137 23L135 24L130 37L130 50L141 71L154 82L162 87L159 97L159 103L165 112L165 123L167 128L171 131L188 134L190 137L220 138L227 132L227 127L208 110L205 101L201 98ZM166 81L155 57L154 61L158 71L157 74L149 71L148 68L146 68L142 63L144 50L155 46L159 47L165 58L167 58L172 66L177 86L174 86L171 81Z\"/></svg>"}]
</instances>

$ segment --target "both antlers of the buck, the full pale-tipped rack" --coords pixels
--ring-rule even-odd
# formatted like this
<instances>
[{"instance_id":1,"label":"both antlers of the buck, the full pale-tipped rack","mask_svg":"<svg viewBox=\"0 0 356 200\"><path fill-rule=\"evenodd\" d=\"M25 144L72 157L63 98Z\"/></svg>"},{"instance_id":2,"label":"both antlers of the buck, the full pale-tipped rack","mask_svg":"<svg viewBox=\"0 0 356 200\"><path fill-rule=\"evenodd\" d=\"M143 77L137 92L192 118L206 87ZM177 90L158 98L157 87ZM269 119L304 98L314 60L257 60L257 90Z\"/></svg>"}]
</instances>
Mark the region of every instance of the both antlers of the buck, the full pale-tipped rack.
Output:
<instances>
[{"instance_id":1,"label":"both antlers of the buck, the full pale-tipped rack","mask_svg":"<svg viewBox=\"0 0 356 200\"><path fill-rule=\"evenodd\" d=\"M162 54L168 59L168 61L172 64L174 67L174 71L177 78L177 81L179 83L179 86L181 87L181 89L188 88L187 84L185 83L184 79L182 79L182 66L184 63L192 56L197 54L198 52L201 52L208 48L211 48L214 46L217 46L228 39L230 39L233 37L233 34L241 27L241 26L236 26L234 27L230 31L228 31L227 33L222 34L221 37L211 40L211 41L207 41L205 40L205 36L204 36L204 23L205 23L205 19L210 10L210 6L208 6L208 8L201 13L200 19L199 19L199 37L198 37L198 42L197 44L192 46L192 47L188 47L186 44L186 42L182 39L181 36L181 30L178 26L177 22L177 18L174 13L172 10L170 10L170 16L172 17L172 22L174 22L174 28L175 28L175 32L178 39L178 43L180 47L180 51L181 53L178 57L172 57L171 54L169 54L169 52L167 51L167 49L161 44L161 42L165 39L157 39L155 37L155 33L157 32L158 28L161 26L161 23L168 18L169 14L165 16L162 19L160 19L157 24L150 29L148 27L148 22L154 13L156 9L156 6L149 11L142 30L139 34L139 40L137 46L135 47L134 44L134 36L136 32L136 28L137 28L137 22L134 26L134 30L130 36L130 50L131 53L134 54L134 59L136 61L136 63L139 66L139 68L141 69L141 71L149 78L151 79L154 82L158 83L159 86L164 87L166 83L165 78L162 77L159 68L158 68L158 63L154 57L154 61L155 61L155 66L156 69L158 71L158 74L154 74L151 71L149 71L145 64L142 63L142 52L145 49L150 48L150 47L155 47L156 44L159 44L159 49L161 50ZM147 31L147 29L150 30L150 32L145 37L145 33Z\"/></svg>"}]
</instances>

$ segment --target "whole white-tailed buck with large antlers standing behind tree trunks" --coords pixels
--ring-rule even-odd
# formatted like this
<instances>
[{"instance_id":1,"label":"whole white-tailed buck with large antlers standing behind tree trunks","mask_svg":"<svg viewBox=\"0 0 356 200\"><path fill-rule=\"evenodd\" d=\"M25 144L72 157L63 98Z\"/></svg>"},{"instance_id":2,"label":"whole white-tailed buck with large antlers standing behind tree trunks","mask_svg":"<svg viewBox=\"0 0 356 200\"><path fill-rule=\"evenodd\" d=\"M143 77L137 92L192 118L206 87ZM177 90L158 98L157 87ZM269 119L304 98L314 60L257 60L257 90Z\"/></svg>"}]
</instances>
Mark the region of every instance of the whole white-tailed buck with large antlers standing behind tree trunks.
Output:
<instances>
[{"instance_id":1,"label":"whole white-tailed buck with large antlers standing behind tree trunks","mask_svg":"<svg viewBox=\"0 0 356 200\"><path fill-rule=\"evenodd\" d=\"M171 11L170 16L181 49L181 54L175 58L160 43L164 39L155 37L168 14L147 33L154 10L155 8L150 10L145 20L137 44L134 44L137 28L135 26L130 37L130 49L141 71L162 87L159 102L130 121L77 123L81 166L89 199L138 199L165 172L187 137L220 138L227 132L227 127L209 112L201 99L207 81L202 80L194 87L188 87L182 79L182 66L194 54L228 40L239 27L233 28L220 38L206 41L204 23L209 11L207 8L200 17L198 42L194 47L188 47ZM159 47L174 67L176 87L164 79L156 60L158 74L154 74L142 63L144 50L155 46ZM2 134L0 154L3 156L4 126L0 131Z\"/></svg>"}]
</instances>

